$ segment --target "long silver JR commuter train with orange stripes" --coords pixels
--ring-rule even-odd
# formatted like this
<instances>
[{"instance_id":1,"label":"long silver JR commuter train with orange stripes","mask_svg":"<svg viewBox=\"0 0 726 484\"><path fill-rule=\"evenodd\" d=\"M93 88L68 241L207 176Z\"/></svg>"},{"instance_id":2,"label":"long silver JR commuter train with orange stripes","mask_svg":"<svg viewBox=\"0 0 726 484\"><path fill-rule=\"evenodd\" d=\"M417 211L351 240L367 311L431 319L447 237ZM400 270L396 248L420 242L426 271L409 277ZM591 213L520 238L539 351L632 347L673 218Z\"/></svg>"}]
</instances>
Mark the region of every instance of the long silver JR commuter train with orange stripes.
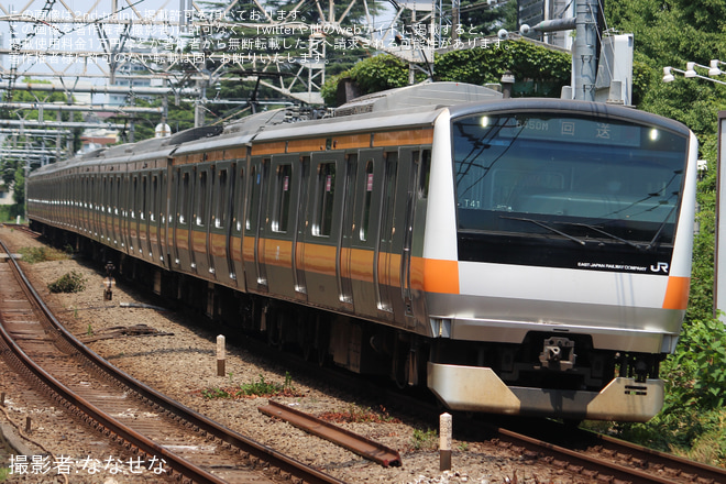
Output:
<instances>
[{"instance_id":1,"label":"long silver JR commuter train with orange stripes","mask_svg":"<svg viewBox=\"0 0 726 484\"><path fill-rule=\"evenodd\" d=\"M426 82L80 154L26 204L156 294L452 411L647 421L696 160L629 107Z\"/></svg>"}]
</instances>

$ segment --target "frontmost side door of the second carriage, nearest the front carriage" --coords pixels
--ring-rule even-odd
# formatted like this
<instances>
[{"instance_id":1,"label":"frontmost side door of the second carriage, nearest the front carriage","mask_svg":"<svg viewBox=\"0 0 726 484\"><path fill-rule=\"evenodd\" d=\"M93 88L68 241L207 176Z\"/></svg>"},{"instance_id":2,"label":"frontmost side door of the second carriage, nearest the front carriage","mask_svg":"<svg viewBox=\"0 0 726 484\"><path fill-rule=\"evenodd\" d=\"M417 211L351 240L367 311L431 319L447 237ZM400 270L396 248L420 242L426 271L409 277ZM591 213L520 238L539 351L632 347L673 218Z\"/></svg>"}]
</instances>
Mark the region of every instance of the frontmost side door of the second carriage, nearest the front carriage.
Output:
<instances>
[{"instance_id":1,"label":"frontmost side door of the second carriage, nearest the front carriage","mask_svg":"<svg viewBox=\"0 0 726 484\"><path fill-rule=\"evenodd\" d=\"M210 264L215 270L217 280L234 284L234 266L232 263L232 218L234 206L235 164L219 162L212 169L211 223L210 232Z\"/></svg>"}]
</instances>

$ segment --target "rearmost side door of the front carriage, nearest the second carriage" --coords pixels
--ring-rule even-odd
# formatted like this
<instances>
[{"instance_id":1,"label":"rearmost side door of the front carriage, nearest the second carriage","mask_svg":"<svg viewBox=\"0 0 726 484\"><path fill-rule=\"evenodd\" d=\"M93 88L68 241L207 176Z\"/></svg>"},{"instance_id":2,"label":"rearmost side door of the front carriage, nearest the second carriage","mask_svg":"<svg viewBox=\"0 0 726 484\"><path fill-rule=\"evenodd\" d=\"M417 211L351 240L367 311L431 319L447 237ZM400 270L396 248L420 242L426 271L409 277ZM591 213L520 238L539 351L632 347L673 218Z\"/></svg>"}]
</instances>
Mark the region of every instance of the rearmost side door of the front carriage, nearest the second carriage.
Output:
<instances>
[{"instance_id":1,"label":"rearmost side door of the front carriage, nearest the second carriage","mask_svg":"<svg viewBox=\"0 0 726 484\"><path fill-rule=\"evenodd\" d=\"M270 170L270 158L255 156L250 164L249 189L250 201L248 204L244 220L244 274L248 288L251 290L267 290L267 274L264 264L260 263L260 240L264 233L264 200L266 199L265 187L267 186L267 172Z\"/></svg>"}]
</instances>

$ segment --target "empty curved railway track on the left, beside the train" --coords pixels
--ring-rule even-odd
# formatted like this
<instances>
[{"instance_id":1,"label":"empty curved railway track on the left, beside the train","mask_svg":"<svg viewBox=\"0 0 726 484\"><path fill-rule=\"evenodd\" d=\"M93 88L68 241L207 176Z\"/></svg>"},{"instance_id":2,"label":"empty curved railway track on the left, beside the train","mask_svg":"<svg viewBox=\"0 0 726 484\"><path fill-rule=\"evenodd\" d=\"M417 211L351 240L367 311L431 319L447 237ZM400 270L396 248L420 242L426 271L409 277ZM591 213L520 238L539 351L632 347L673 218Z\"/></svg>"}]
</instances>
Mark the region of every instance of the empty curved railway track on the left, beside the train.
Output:
<instances>
[{"instance_id":1,"label":"empty curved railway track on the left, beside the train","mask_svg":"<svg viewBox=\"0 0 726 484\"><path fill-rule=\"evenodd\" d=\"M14 260L7 260L0 264L2 355L40 393L135 455L132 470L195 483L341 483L109 365L57 322Z\"/></svg>"}]
</instances>

